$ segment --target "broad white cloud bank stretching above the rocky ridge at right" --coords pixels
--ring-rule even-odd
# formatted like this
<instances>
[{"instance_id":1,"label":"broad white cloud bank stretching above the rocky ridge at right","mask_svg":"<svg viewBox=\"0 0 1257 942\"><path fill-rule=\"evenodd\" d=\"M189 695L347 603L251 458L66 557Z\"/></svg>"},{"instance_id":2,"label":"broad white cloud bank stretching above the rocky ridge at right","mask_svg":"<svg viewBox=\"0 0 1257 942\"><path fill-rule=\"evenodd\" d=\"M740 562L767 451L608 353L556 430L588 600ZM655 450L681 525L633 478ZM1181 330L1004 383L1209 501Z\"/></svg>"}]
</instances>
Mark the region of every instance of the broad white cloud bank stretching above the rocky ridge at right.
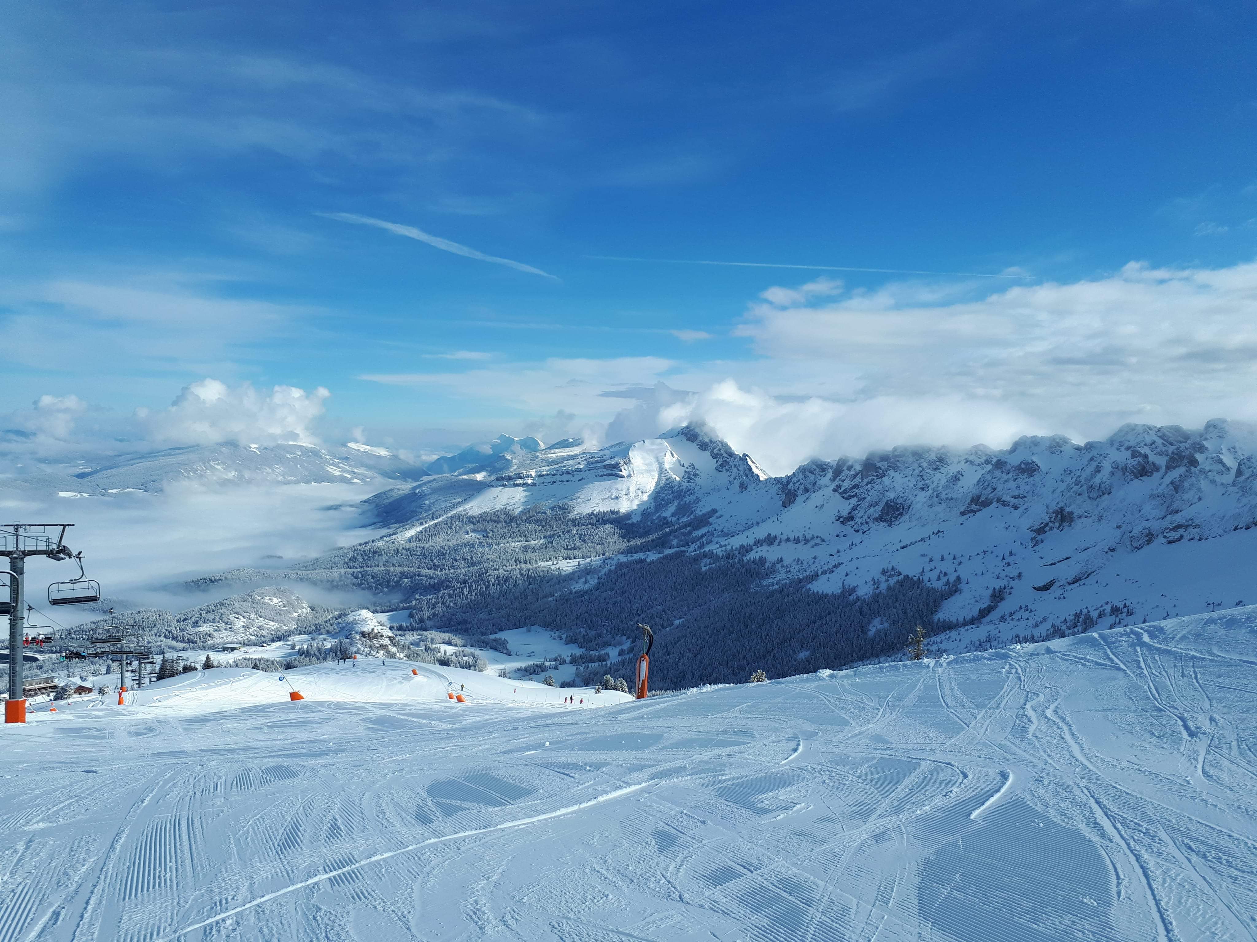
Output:
<instances>
[{"instance_id":1,"label":"broad white cloud bank stretching above the rocky ridge at right","mask_svg":"<svg viewBox=\"0 0 1257 942\"><path fill-rule=\"evenodd\" d=\"M1257 263L1131 263L1086 281L957 296L972 289L887 285L803 305L764 293L734 334L801 378L857 377L846 398L959 399L1073 435L1257 414Z\"/></svg>"}]
</instances>

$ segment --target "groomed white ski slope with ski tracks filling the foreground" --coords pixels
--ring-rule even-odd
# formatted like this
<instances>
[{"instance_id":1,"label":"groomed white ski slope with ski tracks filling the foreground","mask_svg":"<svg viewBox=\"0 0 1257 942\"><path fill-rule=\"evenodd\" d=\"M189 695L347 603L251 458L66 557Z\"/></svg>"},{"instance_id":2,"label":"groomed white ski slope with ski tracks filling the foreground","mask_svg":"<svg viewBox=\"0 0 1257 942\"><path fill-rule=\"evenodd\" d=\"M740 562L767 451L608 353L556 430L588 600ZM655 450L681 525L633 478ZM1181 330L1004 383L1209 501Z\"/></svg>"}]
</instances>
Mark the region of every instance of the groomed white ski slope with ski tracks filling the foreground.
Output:
<instances>
[{"instance_id":1,"label":"groomed white ski slope with ski tracks filling the foreground","mask_svg":"<svg viewBox=\"0 0 1257 942\"><path fill-rule=\"evenodd\" d=\"M0 740L0 942L1251 939L1254 642L1247 608L606 708L378 661L41 707Z\"/></svg>"}]
</instances>

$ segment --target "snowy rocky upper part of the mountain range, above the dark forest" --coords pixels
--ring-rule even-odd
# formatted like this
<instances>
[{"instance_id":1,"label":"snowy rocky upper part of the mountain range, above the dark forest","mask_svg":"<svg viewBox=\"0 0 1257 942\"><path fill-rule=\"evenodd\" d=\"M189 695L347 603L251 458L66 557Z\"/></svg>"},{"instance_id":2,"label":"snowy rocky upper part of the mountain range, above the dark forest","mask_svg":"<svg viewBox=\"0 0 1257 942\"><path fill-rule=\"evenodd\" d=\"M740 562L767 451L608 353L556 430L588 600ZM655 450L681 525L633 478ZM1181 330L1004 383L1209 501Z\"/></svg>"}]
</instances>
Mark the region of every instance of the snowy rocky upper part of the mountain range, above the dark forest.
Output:
<instances>
[{"instance_id":1,"label":"snowy rocky upper part of the mountain range, above the dark forest","mask_svg":"<svg viewBox=\"0 0 1257 942\"><path fill-rule=\"evenodd\" d=\"M503 452L491 467L373 502L393 528L386 539L402 543L435 538L425 534L442 521L535 521L541 509L564 507L574 517L700 524L686 549L740 550L778 565L777 582L816 577L813 590L869 594L915 577L952 587L939 627L969 624L936 643L967 649L1252 597L1257 430L1218 420L1195 431L1128 425L1085 443L900 447L774 479L685 427L598 451L564 442ZM494 543L474 522L464 529L463 543ZM510 541L508 528L499 543ZM568 559L581 559L572 549ZM591 548L583 559L605 571L606 555Z\"/></svg>"}]
</instances>

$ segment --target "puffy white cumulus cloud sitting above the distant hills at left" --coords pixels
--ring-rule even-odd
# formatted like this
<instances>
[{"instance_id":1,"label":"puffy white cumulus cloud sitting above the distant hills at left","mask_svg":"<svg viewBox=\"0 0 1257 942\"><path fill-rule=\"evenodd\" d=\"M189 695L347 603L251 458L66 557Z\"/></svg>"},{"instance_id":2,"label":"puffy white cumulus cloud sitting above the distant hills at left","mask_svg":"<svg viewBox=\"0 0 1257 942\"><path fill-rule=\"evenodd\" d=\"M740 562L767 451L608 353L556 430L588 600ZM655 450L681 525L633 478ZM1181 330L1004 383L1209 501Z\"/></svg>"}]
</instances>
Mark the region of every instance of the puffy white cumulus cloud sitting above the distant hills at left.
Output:
<instances>
[{"instance_id":1,"label":"puffy white cumulus cloud sitting above the distant hills at left","mask_svg":"<svg viewBox=\"0 0 1257 942\"><path fill-rule=\"evenodd\" d=\"M328 396L323 387L312 393L292 386L265 391L249 383L231 388L217 379L201 379L184 387L170 408L140 409L137 417L153 442L313 442L310 425L323 414Z\"/></svg>"}]
</instances>

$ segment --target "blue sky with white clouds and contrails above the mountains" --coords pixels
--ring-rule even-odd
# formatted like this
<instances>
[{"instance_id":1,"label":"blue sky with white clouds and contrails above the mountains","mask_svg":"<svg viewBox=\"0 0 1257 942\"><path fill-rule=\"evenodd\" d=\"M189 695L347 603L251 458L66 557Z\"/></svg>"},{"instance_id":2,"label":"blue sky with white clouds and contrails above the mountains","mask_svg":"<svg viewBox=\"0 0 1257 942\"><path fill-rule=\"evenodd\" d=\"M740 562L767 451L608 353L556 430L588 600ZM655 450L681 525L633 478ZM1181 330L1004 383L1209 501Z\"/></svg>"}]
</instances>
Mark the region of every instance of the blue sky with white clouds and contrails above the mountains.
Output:
<instances>
[{"instance_id":1,"label":"blue sky with white clouds and contrails above the mountains","mask_svg":"<svg viewBox=\"0 0 1257 942\"><path fill-rule=\"evenodd\" d=\"M1257 417L1251 6L6 21L18 425L40 396L129 416L209 377L324 387L326 435L407 445L703 417L806 456Z\"/></svg>"}]
</instances>

